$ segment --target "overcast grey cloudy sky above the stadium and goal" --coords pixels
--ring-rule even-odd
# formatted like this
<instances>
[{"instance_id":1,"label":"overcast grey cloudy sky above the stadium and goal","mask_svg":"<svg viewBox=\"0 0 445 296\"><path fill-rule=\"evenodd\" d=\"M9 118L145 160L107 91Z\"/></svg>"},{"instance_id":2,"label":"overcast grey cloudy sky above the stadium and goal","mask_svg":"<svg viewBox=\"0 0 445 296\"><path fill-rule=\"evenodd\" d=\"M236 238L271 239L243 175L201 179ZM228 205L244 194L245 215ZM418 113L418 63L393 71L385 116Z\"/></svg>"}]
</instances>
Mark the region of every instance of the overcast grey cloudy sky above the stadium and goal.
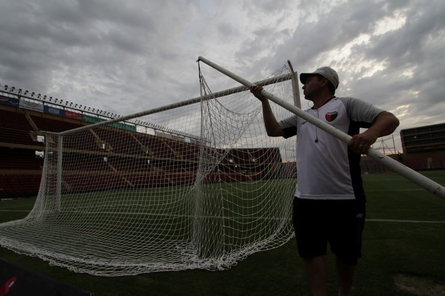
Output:
<instances>
[{"instance_id":1,"label":"overcast grey cloudy sky above the stadium and goal","mask_svg":"<svg viewBox=\"0 0 445 296\"><path fill-rule=\"evenodd\" d=\"M444 16L443 0L3 1L0 84L128 115L198 96L198 56L249 81L291 60L335 68L337 96L398 132L445 121Z\"/></svg>"}]
</instances>

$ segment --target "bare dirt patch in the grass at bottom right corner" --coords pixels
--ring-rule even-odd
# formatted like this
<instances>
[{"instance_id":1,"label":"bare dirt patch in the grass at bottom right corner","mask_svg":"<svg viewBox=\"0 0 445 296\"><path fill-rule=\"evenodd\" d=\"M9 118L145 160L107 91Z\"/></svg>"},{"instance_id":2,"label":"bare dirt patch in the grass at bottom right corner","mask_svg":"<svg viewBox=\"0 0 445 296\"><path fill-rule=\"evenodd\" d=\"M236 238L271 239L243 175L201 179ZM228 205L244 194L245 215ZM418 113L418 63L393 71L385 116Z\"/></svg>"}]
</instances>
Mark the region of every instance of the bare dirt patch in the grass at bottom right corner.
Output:
<instances>
[{"instance_id":1,"label":"bare dirt patch in the grass at bottom right corner","mask_svg":"<svg viewBox=\"0 0 445 296\"><path fill-rule=\"evenodd\" d=\"M445 282L411 275L396 275L395 285L403 291L421 296L445 296Z\"/></svg>"}]
</instances>

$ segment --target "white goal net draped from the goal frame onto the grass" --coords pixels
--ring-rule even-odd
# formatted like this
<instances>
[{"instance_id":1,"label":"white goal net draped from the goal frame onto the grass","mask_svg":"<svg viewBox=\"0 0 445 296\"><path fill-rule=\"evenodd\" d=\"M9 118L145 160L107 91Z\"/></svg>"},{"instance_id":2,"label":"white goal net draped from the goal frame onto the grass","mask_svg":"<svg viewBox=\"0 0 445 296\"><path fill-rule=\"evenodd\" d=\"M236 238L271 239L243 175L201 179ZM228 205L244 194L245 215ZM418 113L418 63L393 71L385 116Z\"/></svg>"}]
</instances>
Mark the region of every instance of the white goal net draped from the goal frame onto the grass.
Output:
<instances>
[{"instance_id":1,"label":"white goal net draped from the goal frame onto the grass","mask_svg":"<svg viewBox=\"0 0 445 296\"><path fill-rule=\"evenodd\" d=\"M290 75L283 67L264 88L293 102ZM249 90L213 95L201 82L196 103L47 133L34 208L0 225L0 245L74 272L121 276L227 269L287 242L294 140L266 136ZM291 115L272 107L278 119Z\"/></svg>"}]
</instances>

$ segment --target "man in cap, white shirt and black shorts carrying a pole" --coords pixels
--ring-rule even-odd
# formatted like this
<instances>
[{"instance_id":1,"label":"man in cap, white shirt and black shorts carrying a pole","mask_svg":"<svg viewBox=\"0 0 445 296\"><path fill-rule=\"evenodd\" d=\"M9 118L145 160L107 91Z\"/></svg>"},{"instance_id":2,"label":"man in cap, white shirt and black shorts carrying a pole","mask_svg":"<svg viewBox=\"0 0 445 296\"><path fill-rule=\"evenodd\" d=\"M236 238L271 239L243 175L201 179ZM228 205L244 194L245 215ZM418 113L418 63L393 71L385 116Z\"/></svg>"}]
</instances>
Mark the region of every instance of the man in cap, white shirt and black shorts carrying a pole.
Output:
<instances>
[{"instance_id":1,"label":"man in cap, white shirt and black shorts carrying a pole","mask_svg":"<svg viewBox=\"0 0 445 296\"><path fill-rule=\"evenodd\" d=\"M301 73L303 93L314 106L305 112L349 134L344 143L293 115L277 121L261 86L251 92L261 101L264 126L269 136L297 135L298 184L293 202L293 224L298 253L303 258L314 295L326 295L327 243L336 255L339 295L348 295L358 258L361 257L366 197L360 157L378 137L397 128L389 112L352 97L336 97L337 72L321 67ZM368 128L360 133L360 128Z\"/></svg>"}]
</instances>

